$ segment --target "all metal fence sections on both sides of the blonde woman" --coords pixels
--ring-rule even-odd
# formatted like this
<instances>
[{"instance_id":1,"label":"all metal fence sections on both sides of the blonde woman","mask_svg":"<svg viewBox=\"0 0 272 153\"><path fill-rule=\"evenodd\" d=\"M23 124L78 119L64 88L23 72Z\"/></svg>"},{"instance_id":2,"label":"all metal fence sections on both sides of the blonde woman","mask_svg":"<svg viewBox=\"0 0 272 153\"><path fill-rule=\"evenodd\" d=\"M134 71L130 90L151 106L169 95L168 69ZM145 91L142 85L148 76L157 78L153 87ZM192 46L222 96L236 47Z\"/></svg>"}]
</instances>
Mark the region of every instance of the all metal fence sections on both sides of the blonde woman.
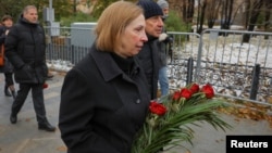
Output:
<instances>
[{"instance_id":1,"label":"all metal fence sections on both sides of the blonde woman","mask_svg":"<svg viewBox=\"0 0 272 153\"><path fill-rule=\"evenodd\" d=\"M76 64L95 38L90 28L46 28L47 60L51 68ZM173 37L169 55L170 88L191 81L211 84L223 97L272 105L272 33L207 29L169 31ZM86 38L87 36L91 36ZM250 41L243 43L247 35ZM264 38L265 37L265 38Z\"/></svg>"}]
</instances>

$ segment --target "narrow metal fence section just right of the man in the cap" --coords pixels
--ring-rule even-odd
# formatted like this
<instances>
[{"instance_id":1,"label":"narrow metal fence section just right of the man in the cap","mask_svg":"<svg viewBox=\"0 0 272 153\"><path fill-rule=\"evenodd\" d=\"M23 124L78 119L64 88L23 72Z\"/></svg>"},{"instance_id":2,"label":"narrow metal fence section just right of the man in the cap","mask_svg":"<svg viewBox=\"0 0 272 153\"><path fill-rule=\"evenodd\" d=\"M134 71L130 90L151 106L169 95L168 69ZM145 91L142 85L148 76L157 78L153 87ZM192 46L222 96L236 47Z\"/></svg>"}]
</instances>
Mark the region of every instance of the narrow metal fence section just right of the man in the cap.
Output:
<instances>
[{"instance_id":1,"label":"narrow metal fence section just right of the man in the cap","mask_svg":"<svg viewBox=\"0 0 272 153\"><path fill-rule=\"evenodd\" d=\"M195 80L193 73L196 65L200 35L196 33L169 31L173 38L169 52L168 73L170 89L177 89Z\"/></svg>"}]
</instances>

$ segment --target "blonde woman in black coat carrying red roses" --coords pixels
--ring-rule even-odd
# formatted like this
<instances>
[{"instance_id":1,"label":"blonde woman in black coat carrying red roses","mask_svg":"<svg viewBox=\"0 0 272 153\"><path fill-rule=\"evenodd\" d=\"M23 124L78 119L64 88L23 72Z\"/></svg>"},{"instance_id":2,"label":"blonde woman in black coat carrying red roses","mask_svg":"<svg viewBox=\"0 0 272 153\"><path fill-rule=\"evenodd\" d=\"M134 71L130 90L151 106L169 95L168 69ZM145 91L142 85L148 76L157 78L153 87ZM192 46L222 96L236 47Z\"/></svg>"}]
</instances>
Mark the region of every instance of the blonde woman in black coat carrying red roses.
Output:
<instances>
[{"instance_id":1,"label":"blonde woman in black coat carrying red roses","mask_svg":"<svg viewBox=\"0 0 272 153\"><path fill-rule=\"evenodd\" d=\"M62 85L59 128L69 153L131 152L150 103L136 58L147 41L145 26L143 9L128 1L100 15L95 43Z\"/></svg>"}]
</instances>

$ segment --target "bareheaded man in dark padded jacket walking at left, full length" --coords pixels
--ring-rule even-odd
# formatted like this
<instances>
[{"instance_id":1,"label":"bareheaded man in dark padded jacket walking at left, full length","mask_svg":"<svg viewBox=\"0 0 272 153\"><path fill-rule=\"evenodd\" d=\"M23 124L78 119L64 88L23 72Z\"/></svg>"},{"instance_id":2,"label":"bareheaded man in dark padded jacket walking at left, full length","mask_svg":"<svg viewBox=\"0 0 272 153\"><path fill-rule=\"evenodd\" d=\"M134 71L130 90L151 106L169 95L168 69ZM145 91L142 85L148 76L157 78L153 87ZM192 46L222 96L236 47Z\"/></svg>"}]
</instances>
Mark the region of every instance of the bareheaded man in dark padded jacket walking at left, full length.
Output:
<instances>
[{"instance_id":1,"label":"bareheaded man in dark padded jacket walking at left, full length","mask_svg":"<svg viewBox=\"0 0 272 153\"><path fill-rule=\"evenodd\" d=\"M11 27L5 38L4 47L7 58L14 66L15 81L20 87L11 109L11 123L17 122L17 114L32 90L38 129L54 131L55 127L49 124L46 116L44 100L44 84L48 73L46 36L42 26L38 23L35 5L24 8L18 22Z\"/></svg>"}]
</instances>

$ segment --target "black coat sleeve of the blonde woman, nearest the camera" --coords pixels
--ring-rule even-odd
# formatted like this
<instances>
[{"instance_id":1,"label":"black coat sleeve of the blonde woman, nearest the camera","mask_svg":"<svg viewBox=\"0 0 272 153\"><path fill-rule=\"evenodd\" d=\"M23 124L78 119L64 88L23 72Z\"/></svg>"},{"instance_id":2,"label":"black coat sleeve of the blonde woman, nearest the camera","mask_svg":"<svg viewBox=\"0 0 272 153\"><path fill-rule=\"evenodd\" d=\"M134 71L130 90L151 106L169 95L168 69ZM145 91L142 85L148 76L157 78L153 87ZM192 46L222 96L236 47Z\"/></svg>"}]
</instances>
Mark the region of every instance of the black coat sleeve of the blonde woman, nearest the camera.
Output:
<instances>
[{"instance_id":1,"label":"black coat sleeve of the blonde woman, nearest the camera","mask_svg":"<svg viewBox=\"0 0 272 153\"><path fill-rule=\"evenodd\" d=\"M64 78L61 90L59 128L69 153L119 153L92 130L91 118L95 103L91 102L87 78L72 69ZM94 86L94 85L92 85Z\"/></svg>"}]
</instances>

